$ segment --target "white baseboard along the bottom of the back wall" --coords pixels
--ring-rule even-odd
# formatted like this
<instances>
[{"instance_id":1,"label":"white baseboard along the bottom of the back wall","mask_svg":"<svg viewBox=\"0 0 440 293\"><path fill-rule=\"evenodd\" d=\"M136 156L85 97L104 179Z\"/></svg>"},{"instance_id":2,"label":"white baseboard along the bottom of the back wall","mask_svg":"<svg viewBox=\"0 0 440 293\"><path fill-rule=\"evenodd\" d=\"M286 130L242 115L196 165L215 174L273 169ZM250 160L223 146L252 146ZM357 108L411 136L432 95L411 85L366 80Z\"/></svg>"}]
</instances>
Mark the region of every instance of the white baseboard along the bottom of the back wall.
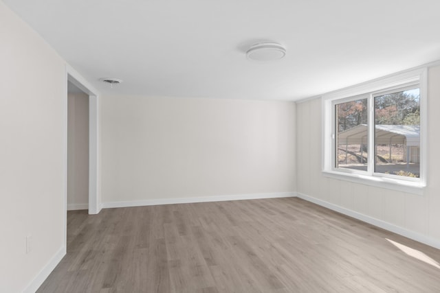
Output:
<instances>
[{"instance_id":1,"label":"white baseboard along the bottom of the back wall","mask_svg":"<svg viewBox=\"0 0 440 293\"><path fill-rule=\"evenodd\" d=\"M103 202L102 208L114 207L140 207L157 204L186 204L192 202L221 202L225 200L256 200L259 198L292 198L295 192L282 192L276 194L238 194L229 196L204 196L197 198L158 198L154 200L134 200L126 202Z\"/></svg>"}]
</instances>

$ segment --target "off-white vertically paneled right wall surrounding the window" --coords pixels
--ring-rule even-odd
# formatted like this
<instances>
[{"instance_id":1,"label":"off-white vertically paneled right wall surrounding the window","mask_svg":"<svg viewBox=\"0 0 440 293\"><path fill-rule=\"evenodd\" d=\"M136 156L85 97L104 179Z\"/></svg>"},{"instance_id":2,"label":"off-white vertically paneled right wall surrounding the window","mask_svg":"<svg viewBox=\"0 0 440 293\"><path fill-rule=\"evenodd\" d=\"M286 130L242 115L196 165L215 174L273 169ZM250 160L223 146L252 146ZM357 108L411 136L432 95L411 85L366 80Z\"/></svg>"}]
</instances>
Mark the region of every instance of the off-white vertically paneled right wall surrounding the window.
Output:
<instances>
[{"instance_id":1,"label":"off-white vertically paneled right wall surrounding the window","mask_svg":"<svg viewBox=\"0 0 440 293\"><path fill-rule=\"evenodd\" d=\"M297 104L300 196L440 248L440 67L428 71L428 187L423 196L330 179L321 174L321 100Z\"/></svg>"}]
</instances>

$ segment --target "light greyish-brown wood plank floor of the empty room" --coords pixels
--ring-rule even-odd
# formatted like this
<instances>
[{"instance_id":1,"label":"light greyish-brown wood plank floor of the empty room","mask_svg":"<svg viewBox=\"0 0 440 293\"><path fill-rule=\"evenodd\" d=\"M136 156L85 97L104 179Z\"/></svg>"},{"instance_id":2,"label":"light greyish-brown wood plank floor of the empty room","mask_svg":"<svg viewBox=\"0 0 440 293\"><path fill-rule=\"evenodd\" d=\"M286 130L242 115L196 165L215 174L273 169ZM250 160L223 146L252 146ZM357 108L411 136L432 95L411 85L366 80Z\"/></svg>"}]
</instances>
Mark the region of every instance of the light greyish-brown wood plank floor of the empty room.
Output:
<instances>
[{"instance_id":1,"label":"light greyish-brown wood plank floor of the empty room","mask_svg":"<svg viewBox=\"0 0 440 293\"><path fill-rule=\"evenodd\" d=\"M440 292L440 269L387 239L440 250L299 198L72 211L67 231L40 293Z\"/></svg>"}]
</instances>

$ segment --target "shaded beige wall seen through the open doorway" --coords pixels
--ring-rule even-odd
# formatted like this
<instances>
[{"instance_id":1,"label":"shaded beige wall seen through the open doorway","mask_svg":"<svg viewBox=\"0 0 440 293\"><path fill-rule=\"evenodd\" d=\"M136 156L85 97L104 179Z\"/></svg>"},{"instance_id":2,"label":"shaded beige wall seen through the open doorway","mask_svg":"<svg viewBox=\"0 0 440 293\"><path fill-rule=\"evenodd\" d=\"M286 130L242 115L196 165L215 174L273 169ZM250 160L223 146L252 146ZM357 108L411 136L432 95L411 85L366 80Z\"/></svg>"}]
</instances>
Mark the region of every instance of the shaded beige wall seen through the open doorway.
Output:
<instances>
[{"instance_id":1,"label":"shaded beige wall seen through the open doorway","mask_svg":"<svg viewBox=\"0 0 440 293\"><path fill-rule=\"evenodd\" d=\"M67 95L67 209L89 207L89 95Z\"/></svg>"}]
</instances>

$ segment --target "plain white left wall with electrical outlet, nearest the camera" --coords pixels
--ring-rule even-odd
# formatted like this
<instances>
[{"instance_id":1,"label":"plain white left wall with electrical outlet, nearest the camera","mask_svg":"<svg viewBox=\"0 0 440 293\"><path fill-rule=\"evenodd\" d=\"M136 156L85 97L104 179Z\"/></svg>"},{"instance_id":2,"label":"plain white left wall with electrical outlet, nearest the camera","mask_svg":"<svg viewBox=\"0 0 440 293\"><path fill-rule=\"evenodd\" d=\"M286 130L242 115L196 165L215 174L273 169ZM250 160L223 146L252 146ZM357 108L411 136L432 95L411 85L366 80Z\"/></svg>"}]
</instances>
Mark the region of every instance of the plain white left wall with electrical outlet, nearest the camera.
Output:
<instances>
[{"instance_id":1,"label":"plain white left wall with electrical outlet, nearest the camera","mask_svg":"<svg viewBox=\"0 0 440 293\"><path fill-rule=\"evenodd\" d=\"M65 249L65 62L1 1L0 36L0 292L22 292Z\"/></svg>"}]
</instances>

